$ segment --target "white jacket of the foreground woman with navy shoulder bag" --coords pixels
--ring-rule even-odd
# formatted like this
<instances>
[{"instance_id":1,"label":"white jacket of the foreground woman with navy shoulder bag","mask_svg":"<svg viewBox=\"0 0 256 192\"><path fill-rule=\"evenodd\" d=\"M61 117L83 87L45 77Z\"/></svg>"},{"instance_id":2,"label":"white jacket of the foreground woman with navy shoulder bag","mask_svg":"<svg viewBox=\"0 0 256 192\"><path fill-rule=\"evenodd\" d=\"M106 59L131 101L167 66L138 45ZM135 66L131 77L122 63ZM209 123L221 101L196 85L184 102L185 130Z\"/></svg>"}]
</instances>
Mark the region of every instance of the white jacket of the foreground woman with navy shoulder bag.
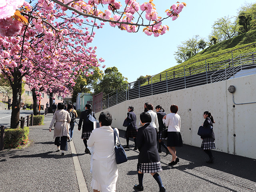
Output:
<instances>
[{"instance_id":1,"label":"white jacket of the foreground woman with navy shoulder bag","mask_svg":"<svg viewBox=\"0 0 256 192\"><path fill-rule=\"evenodd\" d=\"M117 128L116 132L119 135ZM116 142L118 138L116 137ZM92 158L100 161L108 161L116 158L114 150L114 131L111 126L101 126L92 131L88 141L88 147L94 147Z\"/></svg>"}]
</instances>

